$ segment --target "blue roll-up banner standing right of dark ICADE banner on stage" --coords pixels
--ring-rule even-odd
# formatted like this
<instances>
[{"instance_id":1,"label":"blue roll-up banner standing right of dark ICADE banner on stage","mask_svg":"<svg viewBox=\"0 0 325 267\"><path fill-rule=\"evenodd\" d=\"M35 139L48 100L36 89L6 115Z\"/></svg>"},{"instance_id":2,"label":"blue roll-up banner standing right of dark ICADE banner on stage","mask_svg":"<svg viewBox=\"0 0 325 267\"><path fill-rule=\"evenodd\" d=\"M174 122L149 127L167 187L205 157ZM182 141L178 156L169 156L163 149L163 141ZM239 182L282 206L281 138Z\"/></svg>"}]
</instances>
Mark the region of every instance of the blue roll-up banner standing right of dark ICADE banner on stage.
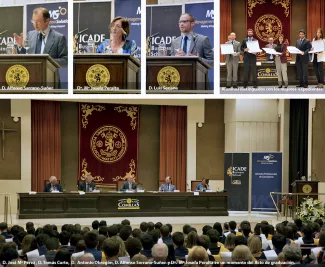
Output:
<instances>
[{"instance_id":1,"label":"blue roll-up banner standing right of dark ICADE banner on stage","mask_svg":"<svg viewBox=\"0 0 325 267\"><path fill-rule=\"evenodd\" d=\"M282 153L252 153L252 211L276 211L270 192L282 191Z\"/></svg>"}]
</instances>

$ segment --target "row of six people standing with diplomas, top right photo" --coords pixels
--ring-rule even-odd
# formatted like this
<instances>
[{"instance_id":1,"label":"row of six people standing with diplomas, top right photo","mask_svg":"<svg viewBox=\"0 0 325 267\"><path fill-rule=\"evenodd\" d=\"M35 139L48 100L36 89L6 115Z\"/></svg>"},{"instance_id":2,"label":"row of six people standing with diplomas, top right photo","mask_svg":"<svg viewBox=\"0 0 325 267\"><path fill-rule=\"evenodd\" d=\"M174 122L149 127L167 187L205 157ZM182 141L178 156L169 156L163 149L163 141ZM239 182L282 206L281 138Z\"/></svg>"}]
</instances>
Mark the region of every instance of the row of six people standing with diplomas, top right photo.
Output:
<instances>
[{"instance_id":1,"label":"row of six people standing with diplomas, top right photo","mask_svg":"<svg viewBox=\"0 0 325 267\"><path fill-rule=\"evenodd\" d=\"M321 28L318 28L313 41L323 41L325 47L324 33ZM257 88L257 67L256 58L257 53L250 53L247 48L248 41L256 41L254 38L254 31L252 29L247 30L247 37L244 38L243 42L236 41L236 34L231 33L228 36L227 44L232 44L234 53L226 56L227 66L227 88L231 86L238 88L238 64L240 61L240 55L243 53L244 57L244 88L247 88L249 82L249 74L252 74L253 87ZM279 88L288 87L288 74L287 74L287 47L289 43L283 35L279 36L278 42L274 43L272 37L268 38L268 44L266 48L272 48L281 55L267 54L268 62L275 62ZM297 87L308 88L308 63L313 63L314 73L317 78L318 85L316 88L324 87L324 62L325 62L325 51L317 53L309 53L313 51L311 42L306 39L306 32L304 30L299 31L299 39L296 42L296 47L301 51L300 54L296 55L296 66L299 75L299 84ZM311 58L309 57L311 55Z\"/></svg>"}]
</instances>

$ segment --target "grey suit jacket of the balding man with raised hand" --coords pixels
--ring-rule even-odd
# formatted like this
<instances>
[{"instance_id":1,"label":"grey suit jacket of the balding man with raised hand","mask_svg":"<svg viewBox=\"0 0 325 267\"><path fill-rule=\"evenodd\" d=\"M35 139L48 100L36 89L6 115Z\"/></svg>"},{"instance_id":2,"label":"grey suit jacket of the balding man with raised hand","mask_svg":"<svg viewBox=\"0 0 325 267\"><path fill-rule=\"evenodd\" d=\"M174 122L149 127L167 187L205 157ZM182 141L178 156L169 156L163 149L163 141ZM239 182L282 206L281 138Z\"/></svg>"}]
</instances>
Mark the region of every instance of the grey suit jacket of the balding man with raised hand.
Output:
<instances>
[{"instance_id":1,"label":"grey suit jacket of the balding man with raised hand","mask_svg":"<svg viewBox=\"0 0 325 267\"><path fill-rule=\"evenodd\" d=\"M30 54L35 54L37 35L37 31L30 31L27 33L27 39L30 40L30 48L27 52ZM22 48L19 51L19 54L26 54L26 49ZM67 67L68 47L65 36L53 29L50 29L43 54L49 54L61 67Z\"/></svg>"}]
</instances>

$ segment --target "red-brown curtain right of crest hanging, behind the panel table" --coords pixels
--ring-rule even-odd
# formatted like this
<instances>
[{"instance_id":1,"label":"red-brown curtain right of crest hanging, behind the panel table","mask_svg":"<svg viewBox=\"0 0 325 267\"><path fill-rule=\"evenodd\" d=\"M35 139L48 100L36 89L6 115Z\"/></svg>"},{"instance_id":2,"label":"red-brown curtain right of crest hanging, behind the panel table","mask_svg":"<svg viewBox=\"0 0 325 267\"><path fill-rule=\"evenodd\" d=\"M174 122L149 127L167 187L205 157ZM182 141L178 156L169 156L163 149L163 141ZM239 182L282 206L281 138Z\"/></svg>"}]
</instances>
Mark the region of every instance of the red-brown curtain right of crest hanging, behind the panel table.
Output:
<instances>
[{"instance_id":1,"label":"red-brown curtain right of crest hanging, behind the panel table","mask_svg":"<svg viewBox=\"0 0 325 267\"><path fill-rule=\"evenodd\" d=\"M161 106L160 180L166 176L186 191L187 107Z\"/></svg>"}]
</instances>

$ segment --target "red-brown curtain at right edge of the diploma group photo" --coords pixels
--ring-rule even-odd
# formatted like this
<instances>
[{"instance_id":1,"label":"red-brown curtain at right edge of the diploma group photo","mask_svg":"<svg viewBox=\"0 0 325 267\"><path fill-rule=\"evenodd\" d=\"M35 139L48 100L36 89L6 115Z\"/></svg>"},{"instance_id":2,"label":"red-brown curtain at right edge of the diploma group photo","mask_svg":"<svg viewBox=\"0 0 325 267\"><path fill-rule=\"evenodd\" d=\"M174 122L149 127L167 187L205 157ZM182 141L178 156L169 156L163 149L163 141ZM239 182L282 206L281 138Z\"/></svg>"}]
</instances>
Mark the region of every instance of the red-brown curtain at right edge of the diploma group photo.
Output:
<instances>
[{"instance_id":1,"label":"red-brown curtain at right edge of the diploma group photo","mask_svg":"<svg viewBox=\"0 0 325 267\"><path fill-rule=\"evenodd\" d=\"M317 28L325 30L325 1L307 1L307 37L310 41L316 35Z\"/></svg>"}]
</instances>

